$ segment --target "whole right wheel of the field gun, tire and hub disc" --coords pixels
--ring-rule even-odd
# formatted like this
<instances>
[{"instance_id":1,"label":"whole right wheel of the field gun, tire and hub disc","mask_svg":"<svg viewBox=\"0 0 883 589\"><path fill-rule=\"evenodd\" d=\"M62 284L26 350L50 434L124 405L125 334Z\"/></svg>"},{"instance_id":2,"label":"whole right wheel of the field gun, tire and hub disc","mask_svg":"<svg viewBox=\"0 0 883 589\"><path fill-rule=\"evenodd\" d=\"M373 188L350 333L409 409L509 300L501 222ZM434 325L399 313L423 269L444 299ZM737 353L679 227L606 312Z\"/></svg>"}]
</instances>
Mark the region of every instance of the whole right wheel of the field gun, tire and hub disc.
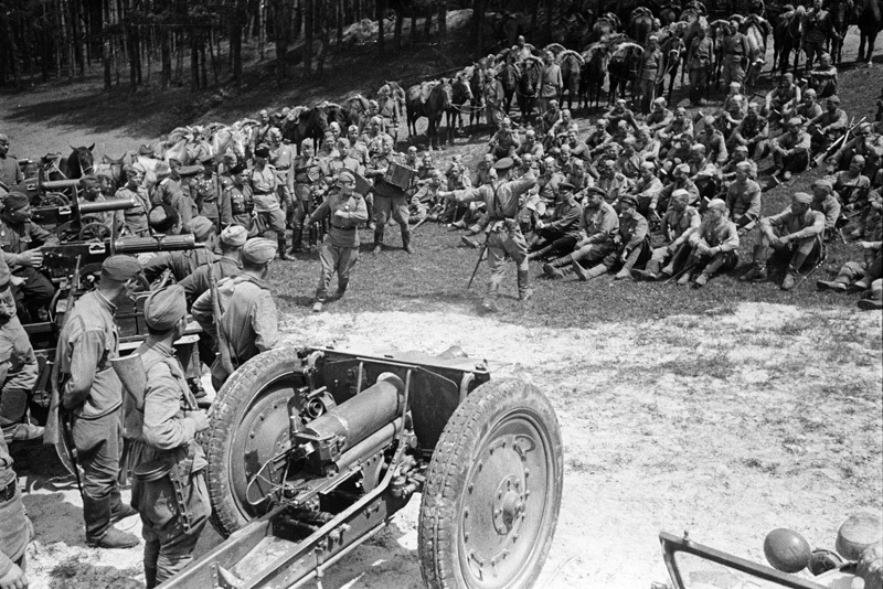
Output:
<instances>
[{"instance_id":1,"label":"whole right wheel of the field gun, tire and hub disc","mask_svg":"<svg viewBox=\"0 0 883 589\"><path fill-rule=\"evenodd\" d=\"M430 589L526 589L549 555L564 460L549 399L493 381L451 416L433 453L419 515Z\"/></svg>"}]
</instances>

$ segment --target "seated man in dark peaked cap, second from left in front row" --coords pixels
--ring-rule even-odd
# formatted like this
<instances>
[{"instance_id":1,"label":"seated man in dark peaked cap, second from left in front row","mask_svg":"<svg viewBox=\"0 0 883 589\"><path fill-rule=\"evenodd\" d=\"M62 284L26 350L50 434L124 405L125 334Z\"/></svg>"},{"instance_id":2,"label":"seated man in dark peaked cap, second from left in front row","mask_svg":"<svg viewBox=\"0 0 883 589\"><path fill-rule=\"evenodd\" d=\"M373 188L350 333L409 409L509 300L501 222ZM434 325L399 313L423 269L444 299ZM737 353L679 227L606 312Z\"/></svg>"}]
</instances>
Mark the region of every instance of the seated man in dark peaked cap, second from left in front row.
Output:
<instances>
[{"instance_id":1,"label":"seated man in dark peaked cap, second from left in front row","mask_svg":"<svg viewBox=\"0 0 883 589\"><path fill-rule=\"evenodd\" d=\"M604 190L593 186L586 190L583 215L579 218L579 239L573 253L543 264L543 272L550 278L564 278L576 267L576 260L594 266L616 249L619 217L606 201ZM582 269L582 266L581 266Z\"/></svg>"}]
</instances>

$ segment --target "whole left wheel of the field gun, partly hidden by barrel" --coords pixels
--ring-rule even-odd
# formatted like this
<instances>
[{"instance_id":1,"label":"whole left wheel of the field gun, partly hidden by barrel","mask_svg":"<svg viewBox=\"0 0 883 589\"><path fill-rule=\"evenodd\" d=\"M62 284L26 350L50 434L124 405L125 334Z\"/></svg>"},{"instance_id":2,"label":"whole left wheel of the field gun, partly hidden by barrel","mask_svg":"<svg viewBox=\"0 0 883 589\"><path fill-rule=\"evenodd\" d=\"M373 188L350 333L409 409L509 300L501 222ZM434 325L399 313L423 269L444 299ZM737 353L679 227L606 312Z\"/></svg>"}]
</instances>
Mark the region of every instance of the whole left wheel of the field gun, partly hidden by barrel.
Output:
<instances>
[{"instance_id":1,"label":"whole left wheel of the field gun, partly hidden by barrel","mask_svg":"<svg viewBox=\"0 0 883 589\"><path fill-rule=\"evenodd\" d=\"M304 386L294 349L258 354L233 373L217 393L202 445L212 525L228 536L262 516L246 501L248 481L288 447L288 399Z\"/></svg>"}]
</instances>

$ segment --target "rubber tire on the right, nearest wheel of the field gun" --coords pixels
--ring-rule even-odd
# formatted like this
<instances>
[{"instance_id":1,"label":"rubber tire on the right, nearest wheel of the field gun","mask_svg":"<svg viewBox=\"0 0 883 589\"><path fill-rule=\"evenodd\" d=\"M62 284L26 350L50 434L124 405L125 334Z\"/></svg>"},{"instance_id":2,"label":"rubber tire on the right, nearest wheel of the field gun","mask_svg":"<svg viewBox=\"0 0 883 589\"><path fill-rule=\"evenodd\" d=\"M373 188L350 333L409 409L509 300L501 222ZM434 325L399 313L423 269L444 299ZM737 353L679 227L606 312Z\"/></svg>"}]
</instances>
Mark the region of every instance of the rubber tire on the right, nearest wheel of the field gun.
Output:
<instances>
[{"instance_id":1,"label":"rubber tire on the right, nearest wheel of the field gun","mask_svg":"<svg viewBox=\"0 0 883 589\"><path fill-rule=\"evenodd\" d=\"M540 575L561 508L564 479L561 430L551 403L535 386L518 379L491 381L470 393L454 413L429 464L418 524L421 572L429 589L474 587L460 569L460 500L483 449L493 440L494 428L510 417L528 417L541 429L551 476L546 476L542 522L536 537L530 540L534 547L504 587L530 588Z\"/></svg>"}]
</instances>

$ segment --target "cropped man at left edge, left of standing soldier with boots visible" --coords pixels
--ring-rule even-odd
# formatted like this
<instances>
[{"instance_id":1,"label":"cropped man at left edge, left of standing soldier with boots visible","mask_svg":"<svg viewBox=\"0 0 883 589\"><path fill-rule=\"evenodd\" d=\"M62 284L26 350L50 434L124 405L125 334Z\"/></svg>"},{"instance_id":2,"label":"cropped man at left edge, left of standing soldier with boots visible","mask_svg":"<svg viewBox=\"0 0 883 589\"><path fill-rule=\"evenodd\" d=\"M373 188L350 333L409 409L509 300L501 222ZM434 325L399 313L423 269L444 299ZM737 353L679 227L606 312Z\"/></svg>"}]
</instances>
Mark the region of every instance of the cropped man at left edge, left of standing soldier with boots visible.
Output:
<instances>
[{"instance_id":1,"label":"cropped man at left edge, left of standing soldier with boots visible","mask_svg":"<svg viewBox=\"0 0 883 589\"><path fill-rule=\"evenodd\" d=\"M9 287L11 277L9 266L0 257L0 428L9 443L34 440L43 435L43 428L31 425L26 417L40 370L31 340L15 317L15 299ZM0 505L2 503L3 486L0 486Z\"/></svg>"}]
</instances>

